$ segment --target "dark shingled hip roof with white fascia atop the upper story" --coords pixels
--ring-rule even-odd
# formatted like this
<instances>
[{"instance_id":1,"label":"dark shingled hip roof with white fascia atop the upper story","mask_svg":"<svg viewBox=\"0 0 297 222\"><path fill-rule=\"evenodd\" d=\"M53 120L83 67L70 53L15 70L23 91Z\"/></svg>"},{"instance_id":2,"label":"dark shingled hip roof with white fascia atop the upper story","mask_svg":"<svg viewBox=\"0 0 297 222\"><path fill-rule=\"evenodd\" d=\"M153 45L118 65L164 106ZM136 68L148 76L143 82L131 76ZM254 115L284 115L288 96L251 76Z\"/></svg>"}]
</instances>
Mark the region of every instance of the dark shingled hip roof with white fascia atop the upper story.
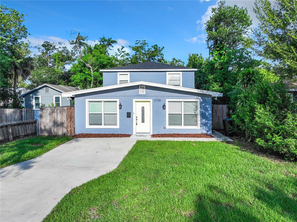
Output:
<instances>
[{"instance_id":1,"label":"dark shingled hip roof with white fascia atop the upper story","mask_svg":"<svg viewBox=\"0 0 297 222\"><path fill-rule=\"evenodd\" d=\"M159 63L159 62L142 62L142 63L137 63L137 64L131 64L128 66L118 66L118 67L112 67L108 69L101 69L102 71L104 70L109 70L109 69L123 69L123 70L133 70L133 69L192 69L189 67L184 67L184 66L174 66L174 65L169 65L169 64L164 64L164 63ZM193 69L195 71L196 69Z\"/></svg>"}]
</instances>

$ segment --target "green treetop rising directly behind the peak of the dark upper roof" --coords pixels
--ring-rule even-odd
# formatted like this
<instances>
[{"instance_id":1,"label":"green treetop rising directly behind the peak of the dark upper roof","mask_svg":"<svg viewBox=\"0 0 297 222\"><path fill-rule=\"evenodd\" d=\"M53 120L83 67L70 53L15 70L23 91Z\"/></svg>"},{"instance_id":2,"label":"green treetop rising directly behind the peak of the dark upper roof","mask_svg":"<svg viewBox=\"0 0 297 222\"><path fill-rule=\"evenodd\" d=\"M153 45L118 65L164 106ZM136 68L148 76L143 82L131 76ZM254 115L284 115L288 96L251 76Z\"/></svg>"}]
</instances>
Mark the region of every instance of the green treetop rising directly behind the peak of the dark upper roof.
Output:
<instances>
[{"instance_id":1,"label":"green treetop rising directly behind the peak of the dark upper roof","mask_svg":"<svg viewBox=\"0 0 297 222\"><path fill-rule=\"evenodd\" d=\"M159 47L157 44L149 46L146 40L136 40L135 45L129 47L134 51L130 58L131 64L149 61L167 63L163 54L164 47Z\"/></svg>"}]
</instances>

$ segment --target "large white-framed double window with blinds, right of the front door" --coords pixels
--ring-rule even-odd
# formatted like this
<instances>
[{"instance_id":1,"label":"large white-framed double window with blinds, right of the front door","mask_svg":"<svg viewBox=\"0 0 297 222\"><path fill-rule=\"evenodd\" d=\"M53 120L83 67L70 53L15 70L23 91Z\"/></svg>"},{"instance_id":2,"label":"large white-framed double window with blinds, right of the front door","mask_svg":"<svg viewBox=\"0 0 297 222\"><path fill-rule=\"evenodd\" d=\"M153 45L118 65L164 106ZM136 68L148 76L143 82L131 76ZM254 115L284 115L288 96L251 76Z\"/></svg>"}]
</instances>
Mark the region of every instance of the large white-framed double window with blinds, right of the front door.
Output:
<instances>
[{"instance_id":1,"label":"large white-framed double window with blinds, right of the front door","mask_svg":"<svg viewBox=\"0 0 297 222\"><path fill-rule=\"evenodd\" d=\"M199 100L167 100L168 128L200 128Z\"/></svg>"}]
</instances>

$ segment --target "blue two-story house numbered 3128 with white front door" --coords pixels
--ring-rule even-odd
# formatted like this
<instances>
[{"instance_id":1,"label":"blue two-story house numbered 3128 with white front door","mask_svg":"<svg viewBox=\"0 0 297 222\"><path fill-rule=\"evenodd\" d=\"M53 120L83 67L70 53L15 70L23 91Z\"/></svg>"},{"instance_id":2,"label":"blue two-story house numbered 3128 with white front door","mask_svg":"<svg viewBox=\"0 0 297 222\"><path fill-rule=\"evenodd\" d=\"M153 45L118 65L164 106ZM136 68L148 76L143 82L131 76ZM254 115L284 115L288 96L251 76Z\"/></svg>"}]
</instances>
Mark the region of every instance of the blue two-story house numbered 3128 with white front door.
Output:
<instances>
[{"instance_id":1,"label":"blue two-story house numbered 3128 with white front door","mask_svg":"<svg viewBox=\"0 0 297 222\"><path fill-rule=\"evenodd\" d=\"M194 88L197 69L157 62L101 69L103 87L62 93L75 97L75 132L211 134L211 98Z\"/></svg>"}]
</instances>

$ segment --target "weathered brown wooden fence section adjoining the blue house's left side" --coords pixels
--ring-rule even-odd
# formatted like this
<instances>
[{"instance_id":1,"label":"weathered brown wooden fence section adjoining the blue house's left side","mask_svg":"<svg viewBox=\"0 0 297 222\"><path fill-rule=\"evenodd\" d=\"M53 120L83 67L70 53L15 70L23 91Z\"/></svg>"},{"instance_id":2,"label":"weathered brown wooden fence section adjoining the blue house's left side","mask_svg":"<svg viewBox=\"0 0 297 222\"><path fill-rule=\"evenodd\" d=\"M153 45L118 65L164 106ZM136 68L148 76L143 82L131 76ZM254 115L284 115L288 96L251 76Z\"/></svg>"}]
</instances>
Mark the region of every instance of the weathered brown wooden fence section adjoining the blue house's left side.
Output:
<instances>
[{"instance_id":1,"label":"weathered brown wooden fence section adjoining the blue house's left side","mask_svg":"<svg viewBox=\"0 0 297 222\"><path fill-rule=\"evenodd\" d=\"M40 135L73 136L74 106L40 107Z\"/></svg>"}]
</instances>

